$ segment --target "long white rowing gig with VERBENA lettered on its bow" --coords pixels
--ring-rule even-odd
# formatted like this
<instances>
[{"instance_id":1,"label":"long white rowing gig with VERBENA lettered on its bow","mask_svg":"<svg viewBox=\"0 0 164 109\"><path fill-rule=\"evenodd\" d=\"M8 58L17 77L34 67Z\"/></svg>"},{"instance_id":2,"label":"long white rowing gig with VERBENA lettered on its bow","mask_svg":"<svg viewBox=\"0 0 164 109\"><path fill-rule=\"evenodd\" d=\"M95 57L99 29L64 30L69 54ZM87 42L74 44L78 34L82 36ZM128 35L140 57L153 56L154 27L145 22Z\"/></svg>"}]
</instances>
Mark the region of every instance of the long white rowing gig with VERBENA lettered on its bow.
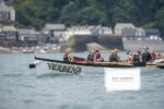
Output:
<instances>
[{"instance_id":1,"label":"long white rowing gig with VERBENA lettered on its bow","mask_svg":"<svg viewBox=\"0 0 164 109\"><path fill-rule=\"evenodd\" d=\"M79 74L82 72L83 66L92 66L92 68L161 68L164 69L163 62L65 62L60 60L46 59L35 57L35 61L30 64L30 69L38 68L42 71L50 70L56 71L58 73L65 72L69 74ZM45 69L44 69L45 68Z\"/></svg>"}]
</instances>

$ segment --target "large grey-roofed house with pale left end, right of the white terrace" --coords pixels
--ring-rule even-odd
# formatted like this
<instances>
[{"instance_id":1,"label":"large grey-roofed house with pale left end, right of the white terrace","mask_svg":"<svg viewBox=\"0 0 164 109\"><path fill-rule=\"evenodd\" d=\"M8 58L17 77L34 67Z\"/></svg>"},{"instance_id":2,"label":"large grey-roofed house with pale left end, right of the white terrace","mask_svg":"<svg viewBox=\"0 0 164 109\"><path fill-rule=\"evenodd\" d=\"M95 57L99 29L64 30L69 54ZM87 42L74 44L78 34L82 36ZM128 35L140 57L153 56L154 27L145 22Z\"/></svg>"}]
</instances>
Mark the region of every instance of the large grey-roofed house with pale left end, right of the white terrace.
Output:
<instances>
[{"instance_id":1,"label":"large grey-roofed house with pale left end, right of the white terrace","mask_svg":"<svg viewBox=\"0 0 164 109\"><path fill-rule=\"evenodd\" d=\"M132 23L117 23L114 34L118 36L134 36L136 26Z\"/></svg>"}]
</instances>

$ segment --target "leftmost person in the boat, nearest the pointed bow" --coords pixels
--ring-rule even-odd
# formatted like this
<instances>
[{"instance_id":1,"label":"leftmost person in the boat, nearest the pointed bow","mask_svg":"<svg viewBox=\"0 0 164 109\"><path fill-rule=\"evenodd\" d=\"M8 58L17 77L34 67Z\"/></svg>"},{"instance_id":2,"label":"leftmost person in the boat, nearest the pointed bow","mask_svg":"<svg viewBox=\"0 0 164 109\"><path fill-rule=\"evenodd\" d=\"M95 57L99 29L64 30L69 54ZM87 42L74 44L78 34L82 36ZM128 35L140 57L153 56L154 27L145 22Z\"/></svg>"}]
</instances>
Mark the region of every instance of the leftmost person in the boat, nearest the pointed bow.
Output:
<instances>
[{"instance_id":1,"label":"leftmost person in the boat, nearest the pointed bow","mask_svg":"<svg viewBox=\"0 0 164 109\"><path fill-rule=\"evenodd\" d=\"M71 56L71 48L66 49L66 53L63 56L63 61L65 62L73 62L74 61L73 57Z\"/></svg>"}]
</instances>

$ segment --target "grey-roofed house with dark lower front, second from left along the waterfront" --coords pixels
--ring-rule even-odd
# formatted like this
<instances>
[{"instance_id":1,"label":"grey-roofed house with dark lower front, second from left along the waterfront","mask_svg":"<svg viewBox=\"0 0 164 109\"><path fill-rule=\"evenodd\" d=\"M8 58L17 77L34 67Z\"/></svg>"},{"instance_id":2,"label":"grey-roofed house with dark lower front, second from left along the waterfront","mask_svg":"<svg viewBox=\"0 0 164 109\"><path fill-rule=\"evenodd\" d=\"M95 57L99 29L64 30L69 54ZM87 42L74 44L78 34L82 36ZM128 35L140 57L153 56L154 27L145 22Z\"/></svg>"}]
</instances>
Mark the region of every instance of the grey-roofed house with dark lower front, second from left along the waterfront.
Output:
<instances>
[{"instance_id":1,"label":"grey-roofed house with dark lower front, second from left along the waterfront","mask_svg":"<svg viewBox=\"0 0 164 109\"><path fill-rule=\"evenodd\" d=\"M21 46L36 46L38 44L38 33L34 28L17 28L19 41Z\"/></svg>"}]
</instances>

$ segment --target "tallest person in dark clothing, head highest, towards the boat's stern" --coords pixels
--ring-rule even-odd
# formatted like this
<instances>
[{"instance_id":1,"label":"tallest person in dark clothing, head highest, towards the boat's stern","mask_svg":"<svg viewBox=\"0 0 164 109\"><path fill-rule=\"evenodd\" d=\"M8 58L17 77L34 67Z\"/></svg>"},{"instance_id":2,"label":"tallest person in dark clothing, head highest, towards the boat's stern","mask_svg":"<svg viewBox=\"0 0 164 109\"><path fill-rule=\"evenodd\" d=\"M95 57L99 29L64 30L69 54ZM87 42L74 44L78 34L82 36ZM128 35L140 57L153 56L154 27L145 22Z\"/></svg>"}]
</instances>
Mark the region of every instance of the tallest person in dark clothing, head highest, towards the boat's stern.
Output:
<instances>
[{"instance_id":1,"label":"tallest person in dark clothing, head highest, towards the boat's stern","mask_svg":"<svg viewBox=\"0 0 164 109\"><path fill-rule=\"evenodd\" d=\"M141 55L142 56L142 62L151 61L151 53L149 51L149 47L144 47L143 49L144 49L144 51Z\"/></svg>"}]
</instances>

